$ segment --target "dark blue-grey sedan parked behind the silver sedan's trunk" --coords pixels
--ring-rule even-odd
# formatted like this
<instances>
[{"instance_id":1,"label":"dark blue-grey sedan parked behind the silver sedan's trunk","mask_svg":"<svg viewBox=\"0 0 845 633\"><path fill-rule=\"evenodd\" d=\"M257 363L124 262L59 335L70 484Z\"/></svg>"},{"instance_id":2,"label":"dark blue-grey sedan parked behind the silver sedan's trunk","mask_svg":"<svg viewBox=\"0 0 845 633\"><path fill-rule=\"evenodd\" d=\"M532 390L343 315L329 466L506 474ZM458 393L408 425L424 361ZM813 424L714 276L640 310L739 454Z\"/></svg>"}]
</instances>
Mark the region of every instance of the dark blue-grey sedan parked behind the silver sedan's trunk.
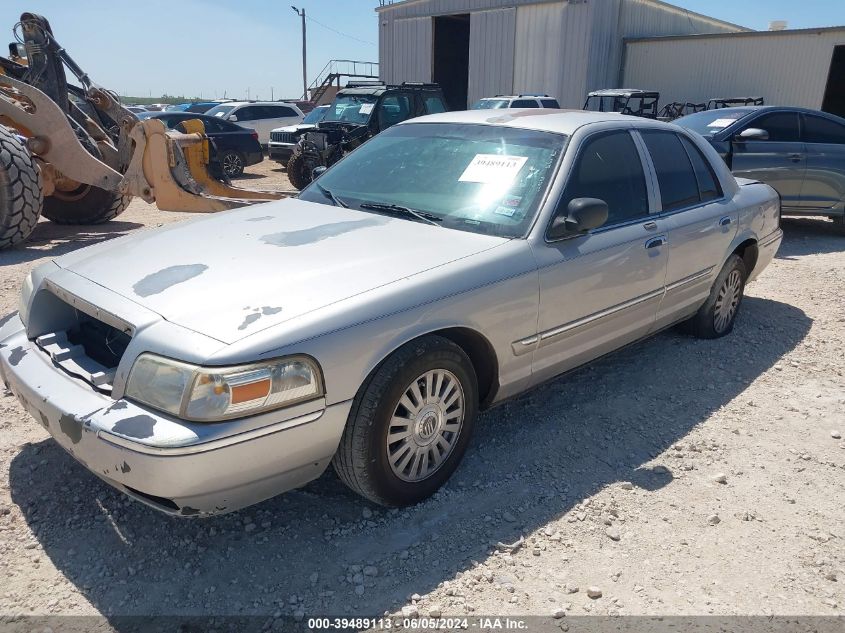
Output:
<instances>
[{"instance_id":1,"label":"dark blue-grey sedan parked behind the silver sedan's trunk","mask_svg":"<svg viewBox=\"0 0 845 633\"><path fill-rule=\"evenodd\" d=\"M774 187L785 215L827 216L845 235L845 119L749 106L698 112L675 123L710 141L734 176Z\"/></svg>"}]
</instances>

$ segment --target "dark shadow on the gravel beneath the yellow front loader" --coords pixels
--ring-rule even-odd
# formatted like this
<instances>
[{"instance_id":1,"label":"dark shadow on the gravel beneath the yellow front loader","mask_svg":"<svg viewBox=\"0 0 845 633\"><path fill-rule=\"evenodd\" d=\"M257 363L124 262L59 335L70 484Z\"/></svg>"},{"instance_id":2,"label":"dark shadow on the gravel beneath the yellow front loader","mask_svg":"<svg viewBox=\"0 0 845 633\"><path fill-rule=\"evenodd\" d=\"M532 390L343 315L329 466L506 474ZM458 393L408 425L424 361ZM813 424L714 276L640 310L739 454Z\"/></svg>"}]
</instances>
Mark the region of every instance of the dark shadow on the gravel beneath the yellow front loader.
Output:
<instances>
[{"instance_id":1,"label":"dark shadow on the gravel beneath the yellow front loader","mask_svg":"<svg viewBox=\"0 0 845 633\"><path fill-rule=\"evenodd\" d=\"M122 237L142 226L138 222L118 220L103 224L73 225L42 220L35 226L35 230L26 242L15 248L0 251L0 266L42 259L45 256L46 243L50 243L49 254L58 256L85 246Z\"/></svg>"}]
</instances>

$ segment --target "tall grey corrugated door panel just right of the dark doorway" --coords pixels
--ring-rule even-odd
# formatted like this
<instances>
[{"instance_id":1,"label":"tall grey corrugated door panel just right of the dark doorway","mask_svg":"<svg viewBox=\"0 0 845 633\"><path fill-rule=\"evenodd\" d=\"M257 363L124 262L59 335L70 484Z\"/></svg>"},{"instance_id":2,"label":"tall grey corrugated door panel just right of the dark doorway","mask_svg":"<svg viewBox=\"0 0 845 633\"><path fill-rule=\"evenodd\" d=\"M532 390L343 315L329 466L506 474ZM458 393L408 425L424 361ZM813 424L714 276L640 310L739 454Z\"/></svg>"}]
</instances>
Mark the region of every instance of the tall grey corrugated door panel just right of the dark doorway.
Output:
<instances>
[{"instance_id":1,"label":"tall grey corrugated door panel just right of the dark doorway","mask_svg":"<svg viewBox=\"0 0 845 633\"><path fill-rule=\"evenodd\" d=\"M470 14L469 103L513 91L516 9Z\"/></svg>"}]
</instances>

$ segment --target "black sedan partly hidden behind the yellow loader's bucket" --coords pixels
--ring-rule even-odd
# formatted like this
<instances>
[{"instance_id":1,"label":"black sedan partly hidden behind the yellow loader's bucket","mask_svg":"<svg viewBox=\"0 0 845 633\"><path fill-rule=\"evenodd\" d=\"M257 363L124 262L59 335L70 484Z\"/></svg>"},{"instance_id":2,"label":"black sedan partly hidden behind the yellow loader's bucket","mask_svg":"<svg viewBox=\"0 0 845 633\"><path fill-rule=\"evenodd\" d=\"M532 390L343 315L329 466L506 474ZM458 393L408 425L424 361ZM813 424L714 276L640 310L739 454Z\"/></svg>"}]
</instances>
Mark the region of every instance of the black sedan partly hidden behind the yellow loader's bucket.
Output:
<instances>
[{"instance_id":1,"label":"black sedan partly hidden behind the yellow loader's bucket","mask_svg":"<svg viewBox=\"0 0 845 633\"><path fill-rule=\"evenodd\" d=\"M264 160L258 134L255 130L223 121L217 117L190 112L150 112L139 114L139 118L161 119L168 129L174 129L182 121L199 119L205 125L205 133L212 141L211 173L219 178L225 174L236 178L244 173L244 167L255 165Z\"/></svg>"}]
</instances>

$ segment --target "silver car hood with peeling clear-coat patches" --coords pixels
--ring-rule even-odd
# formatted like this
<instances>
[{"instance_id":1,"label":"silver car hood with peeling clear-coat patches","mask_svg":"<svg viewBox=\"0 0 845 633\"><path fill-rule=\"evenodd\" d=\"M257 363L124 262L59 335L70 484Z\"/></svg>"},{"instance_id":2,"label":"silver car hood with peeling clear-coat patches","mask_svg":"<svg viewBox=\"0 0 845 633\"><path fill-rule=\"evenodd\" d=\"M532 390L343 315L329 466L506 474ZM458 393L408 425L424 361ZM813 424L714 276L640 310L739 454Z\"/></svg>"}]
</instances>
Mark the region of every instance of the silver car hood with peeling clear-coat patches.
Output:
<instances>
[{"instance_id":1,"label":"silver car hood with peeling clear-coat patches","mask_svg":"<svg viewBox=\"0 0 845 633\"><path fill-rule=\"evenodd\" d=\"M76 251L56 264L234 343L507 242L289 198Z\"/></svg>"}]
</instances>

